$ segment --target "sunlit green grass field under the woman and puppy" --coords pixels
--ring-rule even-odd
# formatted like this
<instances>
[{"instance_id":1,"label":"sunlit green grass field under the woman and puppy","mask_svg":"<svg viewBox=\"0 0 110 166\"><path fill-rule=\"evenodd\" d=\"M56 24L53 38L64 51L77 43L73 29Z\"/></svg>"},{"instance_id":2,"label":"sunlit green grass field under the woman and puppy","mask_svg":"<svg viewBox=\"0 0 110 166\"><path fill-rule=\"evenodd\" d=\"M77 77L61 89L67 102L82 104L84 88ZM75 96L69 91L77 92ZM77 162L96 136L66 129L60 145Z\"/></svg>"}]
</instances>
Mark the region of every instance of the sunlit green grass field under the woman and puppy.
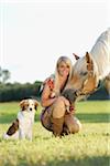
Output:
<instances>
[{"instance_id":1,"label":"sunlit green grass field under the woman and puppy","mask_svg":"<svg viewBox=\"0 0 110 166\"><path fill-rule=\"evenodd\" d=\"M0 166L110 166L110 101L78 102L76 110L78 134L55 138L42 127L38 107L32 142L3 141L19 103L0 103Z\"/></svg>"}]
</instances>

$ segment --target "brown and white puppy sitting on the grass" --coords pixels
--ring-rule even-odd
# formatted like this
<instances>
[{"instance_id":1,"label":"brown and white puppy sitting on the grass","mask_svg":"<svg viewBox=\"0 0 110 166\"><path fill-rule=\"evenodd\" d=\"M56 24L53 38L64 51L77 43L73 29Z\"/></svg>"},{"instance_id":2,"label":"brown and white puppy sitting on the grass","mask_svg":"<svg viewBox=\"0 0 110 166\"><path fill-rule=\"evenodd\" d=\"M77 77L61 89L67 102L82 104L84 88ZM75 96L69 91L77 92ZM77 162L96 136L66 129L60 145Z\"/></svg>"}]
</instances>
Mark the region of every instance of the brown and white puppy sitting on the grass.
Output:
<instances>
[{"instance_id":1,"label":"brown and white puppy sitting on the grass","mask_svg":"<svg viewBox=\"0 0 110 166\"><path fill-rule=\"evenodd\" d=\"M38 106L36 100L23 100L20 102L21 111L18 113L16 120L9 127L3 138L28 138L32 141L32 128L34 123L35 110Z\"/></svg>"}]
</instances>

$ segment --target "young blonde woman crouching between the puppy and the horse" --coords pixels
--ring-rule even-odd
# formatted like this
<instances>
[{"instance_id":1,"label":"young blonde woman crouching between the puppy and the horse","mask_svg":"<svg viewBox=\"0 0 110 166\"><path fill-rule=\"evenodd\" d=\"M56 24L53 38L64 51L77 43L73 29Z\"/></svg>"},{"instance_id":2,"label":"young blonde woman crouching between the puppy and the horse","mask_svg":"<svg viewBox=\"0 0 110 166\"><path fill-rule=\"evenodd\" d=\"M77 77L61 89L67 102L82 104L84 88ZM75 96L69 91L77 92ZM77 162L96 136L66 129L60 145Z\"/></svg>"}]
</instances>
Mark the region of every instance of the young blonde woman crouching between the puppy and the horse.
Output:
<instances>
[{"instance_id":1,"label":"young blonde woman crouching between the puppy and the horse","mask_svg":"<svg viewBox=\"0 0 110 166\"><path fill-rule=\"evenodd\" d=\"M61 56L56 64L55 75L44 82L41 98L44 110L41 122L55 136L77 133L81 128L80 122L74 115L74 106L62 95L70 76L72 61L67 56Z\"/></svg>"}]
</instances>

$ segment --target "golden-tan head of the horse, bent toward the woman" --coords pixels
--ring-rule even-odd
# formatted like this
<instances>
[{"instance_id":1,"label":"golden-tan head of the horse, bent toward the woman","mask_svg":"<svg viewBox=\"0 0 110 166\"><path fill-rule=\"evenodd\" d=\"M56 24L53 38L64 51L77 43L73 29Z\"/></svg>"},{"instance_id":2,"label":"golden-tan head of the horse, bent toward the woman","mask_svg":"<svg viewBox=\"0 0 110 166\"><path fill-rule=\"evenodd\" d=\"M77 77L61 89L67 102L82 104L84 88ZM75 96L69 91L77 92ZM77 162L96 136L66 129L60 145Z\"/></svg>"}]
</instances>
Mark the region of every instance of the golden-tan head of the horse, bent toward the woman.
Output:
<instances>
[{"instance_id":1,"label":"golden-tan head of the horse, bent toward the woman","mask_svg":"<svg viewBox=\"0 0 110 166\"><path fill-rule=\"evenodd\" d=\"M97 65L87 52L86 55L78 59L73 66L72 80L68 82L66 89L75 90L77 95L87 95L92 93L97 86Z\"/></svg>"}]
</instances>

